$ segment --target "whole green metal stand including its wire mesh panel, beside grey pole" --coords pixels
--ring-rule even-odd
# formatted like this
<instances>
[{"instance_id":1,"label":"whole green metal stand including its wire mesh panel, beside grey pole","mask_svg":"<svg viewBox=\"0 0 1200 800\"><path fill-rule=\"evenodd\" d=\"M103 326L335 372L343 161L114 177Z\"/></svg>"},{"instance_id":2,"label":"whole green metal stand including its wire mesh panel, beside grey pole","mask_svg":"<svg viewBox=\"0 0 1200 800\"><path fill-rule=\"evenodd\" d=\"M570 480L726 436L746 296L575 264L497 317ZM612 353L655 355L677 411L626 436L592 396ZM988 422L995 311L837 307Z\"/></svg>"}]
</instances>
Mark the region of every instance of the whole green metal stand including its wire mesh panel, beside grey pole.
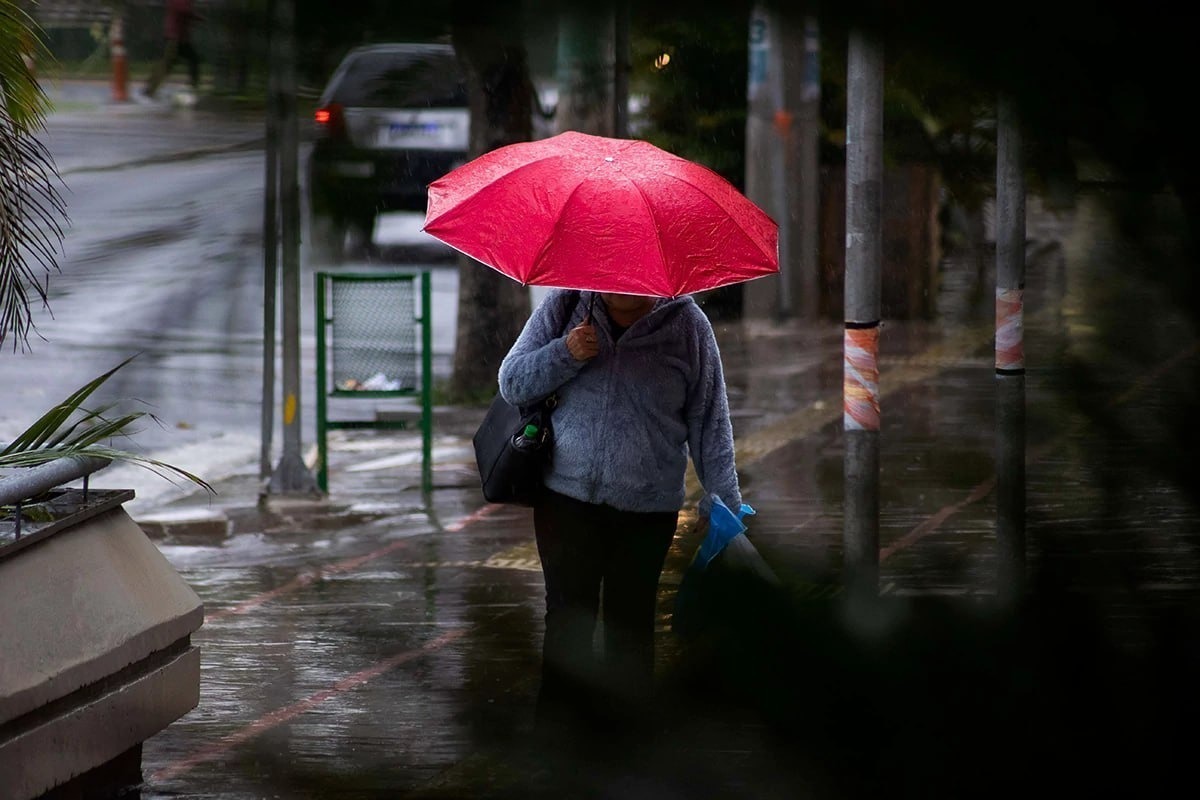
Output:
<instances>
[{"instance_id":1,"label":"whole green metal stand including its wire mesh panel, beside grey pole","mask_svg":"<svg viewBox=\"0 0 1200 800\"><path fill-rule=\"evenodd\" d=\"M329 419L330 398L418 397L421 491L433 488L430 272L318 272L317 485L329 491L328 433L407 429L408 419ZM419 305L418 305L419 299Z\"/></svg>"}]
</instances>

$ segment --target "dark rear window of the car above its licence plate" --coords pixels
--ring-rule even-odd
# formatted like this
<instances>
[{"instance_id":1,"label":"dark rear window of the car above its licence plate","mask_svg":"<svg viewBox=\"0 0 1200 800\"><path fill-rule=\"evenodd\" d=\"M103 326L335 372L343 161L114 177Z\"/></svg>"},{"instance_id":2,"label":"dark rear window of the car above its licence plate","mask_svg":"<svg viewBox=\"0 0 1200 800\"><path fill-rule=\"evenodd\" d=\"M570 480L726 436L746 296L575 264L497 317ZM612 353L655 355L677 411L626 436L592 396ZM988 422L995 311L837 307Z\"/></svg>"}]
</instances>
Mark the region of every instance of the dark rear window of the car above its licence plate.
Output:
<instances>
[{"instance_id":1,"label":"dark rear window of the car above its licence plate","mask_svg":"<svg viewBox=\"0 0 1200 800\"><path fill-rule=\"evenodd\" d=\"M467 85L452 53L360 53L346 65L331 100L347 107L454 108Z\"/></svg>"}]
</instances>

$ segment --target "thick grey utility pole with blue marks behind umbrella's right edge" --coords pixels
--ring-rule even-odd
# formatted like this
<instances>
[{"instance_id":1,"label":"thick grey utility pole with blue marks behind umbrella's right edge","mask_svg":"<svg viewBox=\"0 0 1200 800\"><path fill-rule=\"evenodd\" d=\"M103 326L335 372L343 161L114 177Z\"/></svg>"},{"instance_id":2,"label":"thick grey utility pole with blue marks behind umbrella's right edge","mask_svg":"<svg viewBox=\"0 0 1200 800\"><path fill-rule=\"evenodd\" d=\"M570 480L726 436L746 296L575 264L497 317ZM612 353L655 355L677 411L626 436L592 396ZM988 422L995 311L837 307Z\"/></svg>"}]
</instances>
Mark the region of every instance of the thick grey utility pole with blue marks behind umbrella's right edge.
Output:
<instances>
[{"instance_id":1,"label":"thick grey utility pole with blue marks behind umbrella's right edge","mask_svg":"<svg viewBox=\"0 0 1200 800\"><path fill-rule=\"evenodd\" d=\"M820 36L815 17L758 2L750 14L746 197L779 223L779 276L745 284L746 317L818 311Z\"/></svg>"}]
</instances>

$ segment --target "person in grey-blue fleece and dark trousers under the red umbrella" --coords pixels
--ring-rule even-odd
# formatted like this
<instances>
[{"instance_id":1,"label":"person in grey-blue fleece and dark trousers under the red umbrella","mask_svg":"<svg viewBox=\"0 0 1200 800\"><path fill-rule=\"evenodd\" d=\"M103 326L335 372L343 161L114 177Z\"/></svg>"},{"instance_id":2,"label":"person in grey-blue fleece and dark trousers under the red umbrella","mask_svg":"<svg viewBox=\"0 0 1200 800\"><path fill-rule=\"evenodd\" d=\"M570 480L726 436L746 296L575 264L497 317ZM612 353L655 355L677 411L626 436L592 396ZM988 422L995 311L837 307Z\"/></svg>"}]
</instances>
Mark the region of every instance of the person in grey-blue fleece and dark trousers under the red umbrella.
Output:
<instances>
[{"instance_id":1,"label":"person in grey-blue fleece and dark trousers under the red umbrella","mask_svg":"<svg viewBox=\"0 0 1200 800\"><path fill-rule=\"evenodd\" d=\"M690 295L552 289L500 363L499 389L516 405L558 393L534 506L546 588L536 729L588 746L643 741L658 583L689 456L702 518L715 498L742 504L713 327Z\"/></svg>"}]
</instances>

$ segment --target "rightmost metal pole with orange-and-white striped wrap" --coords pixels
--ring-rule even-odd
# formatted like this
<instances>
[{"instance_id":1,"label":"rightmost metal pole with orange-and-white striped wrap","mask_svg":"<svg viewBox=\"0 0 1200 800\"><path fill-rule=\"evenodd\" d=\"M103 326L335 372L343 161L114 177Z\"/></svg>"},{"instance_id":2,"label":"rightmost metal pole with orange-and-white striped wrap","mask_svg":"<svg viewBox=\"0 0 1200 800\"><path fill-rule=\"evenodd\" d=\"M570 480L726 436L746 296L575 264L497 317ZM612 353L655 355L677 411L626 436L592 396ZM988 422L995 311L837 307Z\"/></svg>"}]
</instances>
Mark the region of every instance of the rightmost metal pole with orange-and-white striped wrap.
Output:
<instances>
[{"instance_id":1,"label":"rightmost metal pole with orange-and-white striped wrap","mask_svg":"<svg viewBox=\"0 0 1200 800\"><path fill-rule=\"evenodd\" d=\"M996 583L1025 591L1025 166L1012 97L996 109Z\"/></svg>"}]
</instances>

